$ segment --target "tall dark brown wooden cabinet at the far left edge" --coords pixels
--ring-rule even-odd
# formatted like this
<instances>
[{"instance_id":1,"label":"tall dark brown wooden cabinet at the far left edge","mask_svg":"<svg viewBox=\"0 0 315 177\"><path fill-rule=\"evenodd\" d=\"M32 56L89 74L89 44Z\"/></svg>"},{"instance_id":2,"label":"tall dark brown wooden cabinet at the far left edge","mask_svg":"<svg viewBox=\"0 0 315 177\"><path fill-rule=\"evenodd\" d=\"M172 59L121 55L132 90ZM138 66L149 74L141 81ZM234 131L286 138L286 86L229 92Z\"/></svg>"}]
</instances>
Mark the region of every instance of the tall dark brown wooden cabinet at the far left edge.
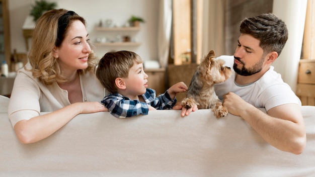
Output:
<instances>
[{"instance_id":1,"label":"tall dark brown wooden cabinet at the far left edge","mask_svg":"<svg viewBox=\"0 0 315 177\"><path fill-rule=\"evenodd\" d=\"M0 0L0 63L7 61L10 64L11 42L8 0Z\"/></svg>"}]
</instances>

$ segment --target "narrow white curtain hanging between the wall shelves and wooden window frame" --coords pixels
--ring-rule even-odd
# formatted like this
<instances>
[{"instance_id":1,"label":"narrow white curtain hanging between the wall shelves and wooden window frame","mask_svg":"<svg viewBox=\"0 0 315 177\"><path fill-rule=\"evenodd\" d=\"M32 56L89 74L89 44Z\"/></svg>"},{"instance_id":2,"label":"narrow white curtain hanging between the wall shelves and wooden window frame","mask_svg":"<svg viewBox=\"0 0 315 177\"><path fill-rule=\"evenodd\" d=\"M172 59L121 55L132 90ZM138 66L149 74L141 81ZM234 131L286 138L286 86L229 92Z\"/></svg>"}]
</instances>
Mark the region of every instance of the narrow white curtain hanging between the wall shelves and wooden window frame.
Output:
<instances>
[{"instance_id":1,"label":"narrow white curtain hanging between the wall shelves and wooden window frame","mask_svg":"<svg viewBox=\"0 0 315 177\"><path fill-rule=\"evenodd\" d=\"M161 0L159 7L159 25L157 30L157 50L161 67L166 68L169 59L171 29L172 29L172 0Z\"/></svg>"}]
</instances>

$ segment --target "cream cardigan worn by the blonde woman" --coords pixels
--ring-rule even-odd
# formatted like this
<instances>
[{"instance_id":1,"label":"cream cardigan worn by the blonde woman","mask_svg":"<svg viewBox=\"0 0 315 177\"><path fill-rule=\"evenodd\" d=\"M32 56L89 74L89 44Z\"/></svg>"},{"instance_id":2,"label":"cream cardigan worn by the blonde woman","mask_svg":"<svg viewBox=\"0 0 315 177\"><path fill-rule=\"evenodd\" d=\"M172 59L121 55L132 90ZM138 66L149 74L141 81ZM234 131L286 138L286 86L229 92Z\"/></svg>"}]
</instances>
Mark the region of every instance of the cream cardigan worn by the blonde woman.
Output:
<instances>
[{"instance_id":1,"label":"cream cardigan worn by the blonde woman","mask_svg":"<svg viewBox=\"0 0 315 177\"><path fill-rule=\"evenodd\" d=\"M31 68L31 64L26 64ZM101 102L105 88L93 71L80 75L83 102ZM21 121L38 116L41 112L52 112L70 105L68 92L57 83L45 85L24 68L18 71L8 106L12 126Z\"/></svg>"}]
</instances>

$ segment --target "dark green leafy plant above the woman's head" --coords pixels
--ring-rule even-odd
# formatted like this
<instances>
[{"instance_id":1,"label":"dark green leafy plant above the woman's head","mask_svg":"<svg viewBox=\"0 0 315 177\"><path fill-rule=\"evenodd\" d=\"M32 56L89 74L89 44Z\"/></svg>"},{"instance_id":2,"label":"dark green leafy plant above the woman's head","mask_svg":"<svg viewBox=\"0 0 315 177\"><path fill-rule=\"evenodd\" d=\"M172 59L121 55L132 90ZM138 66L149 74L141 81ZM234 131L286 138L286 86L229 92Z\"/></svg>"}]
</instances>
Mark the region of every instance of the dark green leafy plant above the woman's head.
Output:
<instances>
[{"instance_id":1,"label":"dark green leafy plant above the woman's head","mask_svg":"<svg viewBox=\"0 0 315 177\"><path fill-rule=\"evenodd\" d=\"M35 1L35 5L32 6L30 15L34 17L34 22L46 11L55 9L57 6L54 2L47 2L45 0Z\"/></svg>"}]
</instances>

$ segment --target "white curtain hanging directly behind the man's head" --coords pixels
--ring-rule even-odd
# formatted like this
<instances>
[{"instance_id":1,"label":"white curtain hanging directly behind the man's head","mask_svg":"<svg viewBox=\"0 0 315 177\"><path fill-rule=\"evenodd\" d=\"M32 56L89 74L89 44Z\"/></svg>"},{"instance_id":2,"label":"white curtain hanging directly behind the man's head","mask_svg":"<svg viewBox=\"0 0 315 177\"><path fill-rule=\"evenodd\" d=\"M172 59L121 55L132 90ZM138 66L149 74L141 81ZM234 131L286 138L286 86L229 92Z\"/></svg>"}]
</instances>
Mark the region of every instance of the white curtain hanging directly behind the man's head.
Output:
<instances>
[{"instance_id":1,"label":"white curtain hanging directly behind the man's head","mask_svg":"<svg viewBox=\"0 0 315 177\"><path fill-rule=\"evenodd\" d=\"M273 63L284 82L296 91L298 62L304 33L307 0L274 0L273 13L287 25L289 38L280 56Z\"/></svg>"}]
</instances>

